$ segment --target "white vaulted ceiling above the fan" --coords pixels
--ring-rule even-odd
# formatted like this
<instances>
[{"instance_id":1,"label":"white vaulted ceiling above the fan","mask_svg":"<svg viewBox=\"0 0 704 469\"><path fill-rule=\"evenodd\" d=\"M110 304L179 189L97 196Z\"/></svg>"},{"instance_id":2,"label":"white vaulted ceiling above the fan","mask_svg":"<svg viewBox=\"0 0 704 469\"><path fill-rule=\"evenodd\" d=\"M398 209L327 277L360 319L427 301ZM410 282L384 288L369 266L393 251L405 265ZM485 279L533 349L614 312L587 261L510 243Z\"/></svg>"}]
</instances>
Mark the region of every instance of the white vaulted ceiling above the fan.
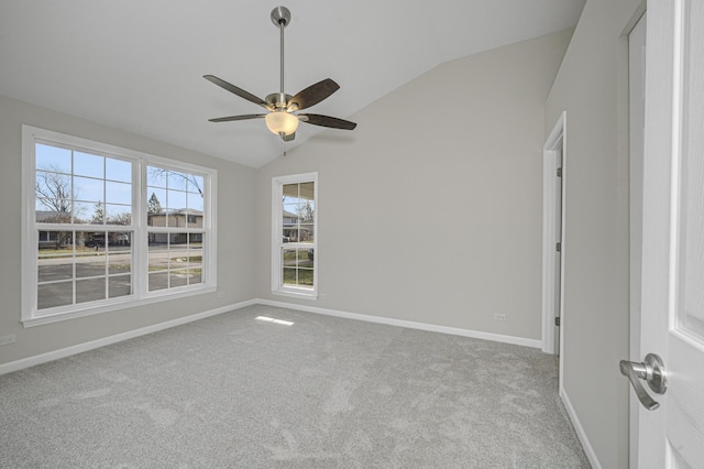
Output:
<instances>
[{"instance_id":1,"label":"white vaulted ceiling above the fan","mask_svg":"<svg viewBox=\"0 0 704 469\"><path fill-rule=\"evenodd\" d=\"M584 0L282 0L286 92L341 89L310 112L349 118L449 59L574 26ZM0 94L260 167L282 154L261 98L278 90L276 0L0 0ZM471 84L468 84L471 86ZM448 102L453 92L448 90ZM364 122L358 122L364 126ZM301 124L300 144L322 128ZM348 131L331 130L348 139ZM166 155L167 156L167 155Z\"/></svg>"}]
</instances>

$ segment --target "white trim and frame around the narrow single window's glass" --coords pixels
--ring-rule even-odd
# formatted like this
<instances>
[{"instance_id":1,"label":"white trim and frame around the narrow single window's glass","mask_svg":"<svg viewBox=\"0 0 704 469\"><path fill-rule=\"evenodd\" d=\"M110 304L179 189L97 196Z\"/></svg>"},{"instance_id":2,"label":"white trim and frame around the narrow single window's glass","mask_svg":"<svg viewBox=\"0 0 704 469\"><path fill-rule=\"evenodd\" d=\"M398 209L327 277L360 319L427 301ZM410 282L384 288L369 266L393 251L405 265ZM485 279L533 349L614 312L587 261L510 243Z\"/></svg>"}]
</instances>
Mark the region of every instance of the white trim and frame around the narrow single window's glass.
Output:
<instances>
[{"instance_id":1,"label":"white trim and frame around the narrow single window's glass","mask_svg":"<svg viewBox=\"0 0 704 469\"><path fill-rule=\"evenodd\" d=\"M284 232L284 212L282 197L284 185L297 183L314 183L314 199L316 210L314 212L314 242L312 249L316 255L312 260L312 288L286 286L282 279L280 249ZM295 298L318 299L318 173L293 174L288 176L272 177L272 294Z\"/></svg>"}]
</instances>

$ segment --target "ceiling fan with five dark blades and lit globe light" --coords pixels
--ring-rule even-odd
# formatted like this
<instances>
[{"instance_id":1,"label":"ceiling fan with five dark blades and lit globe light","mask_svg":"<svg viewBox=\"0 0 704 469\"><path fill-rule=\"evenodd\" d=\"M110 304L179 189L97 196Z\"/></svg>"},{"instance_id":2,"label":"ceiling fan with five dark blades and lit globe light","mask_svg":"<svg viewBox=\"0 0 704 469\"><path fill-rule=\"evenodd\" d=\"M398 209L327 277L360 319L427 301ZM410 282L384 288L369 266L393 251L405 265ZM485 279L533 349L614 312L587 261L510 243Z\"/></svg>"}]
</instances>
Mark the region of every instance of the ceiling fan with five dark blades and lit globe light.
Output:
<instances>
[{"instance_id":1,"label":"ceiling fan with five dark blades and lit globe light","mask_svg":"<svg viewBox=\"0 0 704 469\"><path fill-rule=\"evenodd\" d=\"M276 7L272 10L272 22L280 32L280 88L279 92L273 92L261 99L251 92L248 92L228 81L216 77L215 75L205 75L204 78L211 81L228 91L254 102L266 109L267 113L261 114L242 114L230 116L217 119L210 119L210 122L229 122L235 120L260 119L264 118L266 127L273 133L279 135L283 141L288 142L296 138L296 129L298 122L306 122L314 126L328 127L332 129L353 130L356 123L348 120L333 118L330 116L311 114L311 113L294 113L302 109L310 108L323 99L328 98L334 91L340 89L340 85L330 78L310 85L308 88L298 91L295 96L284 92L284 29L290 23L290 11L286 7Z\"/></svg>"}]
</instances>

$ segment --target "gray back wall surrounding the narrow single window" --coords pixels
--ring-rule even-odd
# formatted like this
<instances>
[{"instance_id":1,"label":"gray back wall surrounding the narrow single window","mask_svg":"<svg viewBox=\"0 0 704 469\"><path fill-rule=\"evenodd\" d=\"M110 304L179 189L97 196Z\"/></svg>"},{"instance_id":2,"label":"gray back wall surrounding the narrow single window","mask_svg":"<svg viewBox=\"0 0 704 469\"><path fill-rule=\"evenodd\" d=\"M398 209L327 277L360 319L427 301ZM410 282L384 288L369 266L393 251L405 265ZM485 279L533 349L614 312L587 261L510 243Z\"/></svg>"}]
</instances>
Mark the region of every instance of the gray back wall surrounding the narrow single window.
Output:
<instances>
[{"instance_id":1,"label":"gray back wall surrounding the narrow single window","mask_svg":"<svg viewBox=\"0 0 704 469\"><path fill-rule=\"evenodd\" d=\"M442 64L260 168L258 297L540 339L543 106L571 33ZM295 301L271 293L271 178L312 171L324 298Z\"/></svg>"}]
</instances>

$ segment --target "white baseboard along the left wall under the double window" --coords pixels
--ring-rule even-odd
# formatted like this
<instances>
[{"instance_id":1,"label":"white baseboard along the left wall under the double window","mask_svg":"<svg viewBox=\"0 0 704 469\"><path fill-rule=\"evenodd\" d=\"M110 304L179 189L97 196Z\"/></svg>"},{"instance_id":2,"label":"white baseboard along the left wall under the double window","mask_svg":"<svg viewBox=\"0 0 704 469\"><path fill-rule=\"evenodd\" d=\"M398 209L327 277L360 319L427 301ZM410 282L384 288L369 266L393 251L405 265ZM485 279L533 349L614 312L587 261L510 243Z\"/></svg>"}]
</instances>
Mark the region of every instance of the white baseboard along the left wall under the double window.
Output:
<instances>
[{"instance_id":1,"label":"white baseboard along the left wall under the double window","mask_svg":"<svg viewBox=\"0 0 704 469\"><path fill-rule=\"evenodd\" d=\"M207 317L216 316L222 313L228 313L233 309L240 309L245 306L254 305L256 303L257 303L256 299L249 299L246 302L235 303L233 305L222 306L216 309L197 313L190 316L179 317L178 319L172 319L165 323L154 324L152 326L142 327L140 329L130 330L128 332L117 334L110 337L103 337L102 339L91 340L89 342L79 343L77 346L66 347L66 348L54 350L51 352L36 355L34 357L28 357L21 360L11 361L9 363L0 364L0 375L10 373L12 371L22 370L24 368L34 367L35 364L46 363L47 361L58 360L59 358L70 357L73 355L97 349L99 347L105 347L111 343L121 342L123 340L133 339L135 337L145 336L147 334L157 332L160 330L168 329L170 327L176 327L184 324L193 323L194 320L205 319Z\"/></svg>"}]
</instances>

